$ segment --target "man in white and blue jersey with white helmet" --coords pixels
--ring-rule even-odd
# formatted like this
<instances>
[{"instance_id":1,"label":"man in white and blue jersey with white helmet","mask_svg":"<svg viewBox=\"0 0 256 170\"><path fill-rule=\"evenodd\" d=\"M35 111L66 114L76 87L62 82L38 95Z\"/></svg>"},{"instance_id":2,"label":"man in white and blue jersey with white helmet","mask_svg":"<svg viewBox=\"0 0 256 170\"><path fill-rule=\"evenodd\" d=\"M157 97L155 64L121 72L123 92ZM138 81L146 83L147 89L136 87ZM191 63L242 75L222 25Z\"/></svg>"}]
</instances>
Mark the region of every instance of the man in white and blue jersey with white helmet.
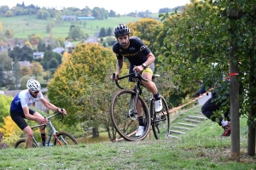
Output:
<instances>
[{"instance_id":1,"label":"man in white and blue jersey with white helmet","mask_svg":"<svg viewBox=\"0 0 256 170\"><path fill-rule=\"evenodd\" d=\"M33 111L29 109L28 106L32 105L32 103L38 98L41 102L51 111L59 111L64 115L67 115L65 109L60 109L55 105L49 103L47 99L44 99L43 94L40 92L41 85L36 80L28 80L26 82L26 90L20 91L19 94L15 96L12 100L10 105L10 116L12 117L13 121L20 127L20 129L26 134L26 147L32 147L32 136L33 131L32 128L29 127L24 120L29 119L38 122L39 124L48 123L48 120L44 118L40 113L37 111ZM40 128L40 133L42 137L43 146L45 145L45 129Z\"/></svg>"}]
</instances>

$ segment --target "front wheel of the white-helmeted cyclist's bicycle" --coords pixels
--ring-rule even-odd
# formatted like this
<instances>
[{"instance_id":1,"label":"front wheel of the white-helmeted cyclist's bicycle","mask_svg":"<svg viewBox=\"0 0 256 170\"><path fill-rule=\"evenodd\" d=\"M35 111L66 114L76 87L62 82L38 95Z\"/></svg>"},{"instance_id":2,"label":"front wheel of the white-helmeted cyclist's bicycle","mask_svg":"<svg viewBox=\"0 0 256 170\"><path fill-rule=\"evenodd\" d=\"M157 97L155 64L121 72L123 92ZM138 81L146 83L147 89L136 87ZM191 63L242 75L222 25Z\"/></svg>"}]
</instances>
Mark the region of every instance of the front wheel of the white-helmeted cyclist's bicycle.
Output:
<instances>
[{"instance_id":1,"label":"front wheel of the white-helmeted cyclist's bicycle","mask_svg":"<svg viewBox=\"0 0 256 170\"><path fill-rule=\"evenodd\" d=\"M58 139L54 139L54 145L74 145L79 144L72 134L67 132L56 133Z\"/></svg>"}]
</instances>

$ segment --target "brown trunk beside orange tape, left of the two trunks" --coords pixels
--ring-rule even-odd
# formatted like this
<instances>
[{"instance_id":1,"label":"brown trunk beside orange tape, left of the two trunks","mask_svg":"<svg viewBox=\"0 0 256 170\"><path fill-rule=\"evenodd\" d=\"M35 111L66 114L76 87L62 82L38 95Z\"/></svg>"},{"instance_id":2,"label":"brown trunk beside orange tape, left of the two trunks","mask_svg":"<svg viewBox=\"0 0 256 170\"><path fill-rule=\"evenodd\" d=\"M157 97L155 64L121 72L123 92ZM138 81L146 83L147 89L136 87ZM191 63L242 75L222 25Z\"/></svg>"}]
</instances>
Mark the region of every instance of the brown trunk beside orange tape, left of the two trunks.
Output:
<instances>
[{"instance_id":1,"label":"brown trunk beside orange tape, left of the two trunks","mask_svg":"<svg viewBox=\"0 0 256 170\"><path fill-rule=\"evenodd\" d=\"M235 37L231 31L231 36ZM230 73L238 73L237 47L233 41L230 42ZM231 157L240 161L240 122L239 122L239 82L238 76L230 76L230 117L231 117Z\"/></svg>"}]
</instances>

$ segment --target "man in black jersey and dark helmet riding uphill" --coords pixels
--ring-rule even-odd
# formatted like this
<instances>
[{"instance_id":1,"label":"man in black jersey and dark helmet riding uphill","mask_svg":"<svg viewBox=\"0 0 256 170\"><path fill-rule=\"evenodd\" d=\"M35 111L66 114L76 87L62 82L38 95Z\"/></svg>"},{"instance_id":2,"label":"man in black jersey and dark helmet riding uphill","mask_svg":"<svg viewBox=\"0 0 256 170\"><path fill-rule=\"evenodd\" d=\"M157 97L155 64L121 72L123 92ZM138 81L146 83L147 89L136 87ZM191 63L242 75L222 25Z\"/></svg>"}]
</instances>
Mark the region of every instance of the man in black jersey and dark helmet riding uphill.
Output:
<instances>
[{"instance_id":1,"label":"man in black jersey and dark helmet riding uphill","mask_svg":"<svg viewBox=\"0 0 256 170\"><path fill-rule=\"evenodd\" d=\"M113 44L113 53L117 56L117 65L115 77L111 78L113 80L117 80L123 66L124 57L127 58L130 62L129 72L142 72L142 76L148 79L148 82L143 82L143 85L149 92L154 94L155 111L161 111L163 107L160 94L158 93L154 82L152 82L155 59L154 54L151 53L139 37L130 37L130 28L125 26L125 24L115 26L113 34L117 40L117 42ZM132 82L132 77L129 77L129 82ZM136 136L142 135L144 130L143 113L141 108L142 107L137 108L139 127L137 129Z\"/></svg>"}]
</instances>

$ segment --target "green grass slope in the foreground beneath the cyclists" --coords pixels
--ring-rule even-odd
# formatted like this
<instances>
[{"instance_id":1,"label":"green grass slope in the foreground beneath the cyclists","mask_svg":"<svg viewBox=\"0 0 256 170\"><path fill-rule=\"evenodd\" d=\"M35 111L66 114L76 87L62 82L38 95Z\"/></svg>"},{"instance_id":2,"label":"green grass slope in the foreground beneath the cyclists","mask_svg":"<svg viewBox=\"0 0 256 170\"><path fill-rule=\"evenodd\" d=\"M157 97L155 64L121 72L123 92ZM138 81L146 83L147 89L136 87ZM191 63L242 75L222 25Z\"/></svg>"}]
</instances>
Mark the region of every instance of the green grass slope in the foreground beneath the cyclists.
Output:
<instances>
[{"instance_id":1,"label":"green grass slope in the foreground beneath the cyclists","mask_svg":"<svg viewBox=\"0 0 256 170\"><path fill-rule=\"evenodd\" d=\"M200 106L181 111L177 121L198 111ZM230 137L219 138L220 133L217 123L207 120L180 139L9 148L0 152L0 169L256 169L255 156L247 156L246 120L241 118L240 162L230 158Z\"/></svg>"}]
</instances>

